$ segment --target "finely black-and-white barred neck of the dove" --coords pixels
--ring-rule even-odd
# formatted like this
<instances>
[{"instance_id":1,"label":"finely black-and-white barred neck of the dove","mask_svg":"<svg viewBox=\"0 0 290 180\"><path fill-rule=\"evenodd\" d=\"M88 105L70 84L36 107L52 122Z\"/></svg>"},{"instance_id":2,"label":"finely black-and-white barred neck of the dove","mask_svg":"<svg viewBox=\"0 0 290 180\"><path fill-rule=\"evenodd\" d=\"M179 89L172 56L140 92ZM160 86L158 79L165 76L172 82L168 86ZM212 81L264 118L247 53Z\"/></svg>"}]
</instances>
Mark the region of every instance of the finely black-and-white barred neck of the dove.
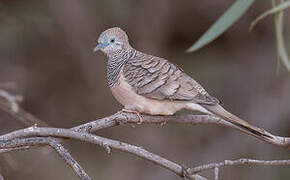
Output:
<instances>
[{"instance_id":1,"label":"finely black-and-white barred neck of the dove","mask_svg":"<svg viewBox=\"0 0 290 180\"><path fill-rule=\"evenodd\" d=\"M107 54L107 81L112 87L118 80L123 65L134 56L136 50L133 48L121 49L114 53Z\"/></svg>"}]
</instances>

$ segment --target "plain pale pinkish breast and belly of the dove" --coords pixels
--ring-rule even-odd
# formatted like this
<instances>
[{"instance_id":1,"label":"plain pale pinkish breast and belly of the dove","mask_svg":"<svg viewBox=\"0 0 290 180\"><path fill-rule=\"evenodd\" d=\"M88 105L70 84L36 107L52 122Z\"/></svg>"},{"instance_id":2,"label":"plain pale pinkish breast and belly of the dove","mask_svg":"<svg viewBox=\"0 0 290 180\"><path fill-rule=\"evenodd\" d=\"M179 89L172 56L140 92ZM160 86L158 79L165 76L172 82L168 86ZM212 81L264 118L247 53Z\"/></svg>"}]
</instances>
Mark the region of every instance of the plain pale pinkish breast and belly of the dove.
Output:
<instances>
[{"instance_id":1,"label":"plain pale pinkish breast and belly of the dove","mask_svg":"<svg viewBox=\"0 0 290 180\"><path fill-rule=\"evenodd\" d=\"M125 109L136 110L141 113L151 115L172 115L186 106L184 102L156 100L137 94L126 81L122 70L117 82L111 86L111 91L113 96L125 107Z\"/></svg>"}]
</instances>

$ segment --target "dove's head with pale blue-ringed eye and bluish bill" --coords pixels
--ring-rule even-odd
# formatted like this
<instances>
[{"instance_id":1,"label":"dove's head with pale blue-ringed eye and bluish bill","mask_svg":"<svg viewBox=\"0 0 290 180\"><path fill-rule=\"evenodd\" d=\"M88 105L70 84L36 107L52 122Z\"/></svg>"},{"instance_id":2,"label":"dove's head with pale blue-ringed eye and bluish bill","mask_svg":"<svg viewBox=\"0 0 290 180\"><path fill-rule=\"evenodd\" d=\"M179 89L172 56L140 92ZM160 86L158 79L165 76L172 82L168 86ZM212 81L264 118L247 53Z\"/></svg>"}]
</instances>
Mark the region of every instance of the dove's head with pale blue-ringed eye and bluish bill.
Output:
<instances>
[{"instance_id":1,"label":"dove's head with pale blue-ringed eye and bluish bill","mask_svg":"<svg viewBox=\"0 0 290 180\"><path fill-rule=\"evenodd\" d=\"M111 54L130 47L128 36L121 28L114 27L105 30L98 38L98 45L94 52L101 50L105 54Z\"/></svg>"}]
</instances>

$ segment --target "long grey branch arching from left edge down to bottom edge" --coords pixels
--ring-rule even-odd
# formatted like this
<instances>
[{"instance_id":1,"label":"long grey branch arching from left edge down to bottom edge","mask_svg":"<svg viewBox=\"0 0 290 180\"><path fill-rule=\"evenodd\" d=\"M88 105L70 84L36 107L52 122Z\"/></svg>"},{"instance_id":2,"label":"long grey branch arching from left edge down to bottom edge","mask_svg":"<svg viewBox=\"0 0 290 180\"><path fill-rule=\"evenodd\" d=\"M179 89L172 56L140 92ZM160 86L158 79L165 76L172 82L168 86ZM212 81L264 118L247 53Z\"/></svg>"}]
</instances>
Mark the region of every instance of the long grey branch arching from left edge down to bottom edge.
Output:
<instances>
[{"instance_id":1,"label":"long grey branch arching from left edge down to bottom edge","mask_svg":"<svg viewBox=\"0 0 290 180\"><path fill-rule=\"evenodd\" d=\"M26 137L57 137L57 138L71 138L76 139L80 141L89 142L92 144L96 144L99 146L102 146L104 148L113 148L117 149L123 152L128 152L130 154L136 155L138 157L141 157L145 160L148 160L154 164L157 164L159 166L162 166L175 174L184 177L185 169L172 161L169 161L161 156L158 156L156 154L153 154L141 147L134 146L131 144L127 144L124 142L100 137L97 135L93 135L86 132L77 132L70 129L61 129L61 128L43 128L43 127L29 127L26 129L21 129L17 131L13 131L11 133L5 134L0 136L0 148L13 148L19 146L18 143L15 143L13 140L15 139L21 139ZM32 139L29 139L32 140ZM12 143L12 144L10 144ZM35 143L35 144L32 144ZM31 144L25 144L25 145L39 145L41 142L37 141L31 141ZM198 175L195 175L195 177L191 177L192 179L196 178L202 179Z\"/></svg>"}]
</instances>

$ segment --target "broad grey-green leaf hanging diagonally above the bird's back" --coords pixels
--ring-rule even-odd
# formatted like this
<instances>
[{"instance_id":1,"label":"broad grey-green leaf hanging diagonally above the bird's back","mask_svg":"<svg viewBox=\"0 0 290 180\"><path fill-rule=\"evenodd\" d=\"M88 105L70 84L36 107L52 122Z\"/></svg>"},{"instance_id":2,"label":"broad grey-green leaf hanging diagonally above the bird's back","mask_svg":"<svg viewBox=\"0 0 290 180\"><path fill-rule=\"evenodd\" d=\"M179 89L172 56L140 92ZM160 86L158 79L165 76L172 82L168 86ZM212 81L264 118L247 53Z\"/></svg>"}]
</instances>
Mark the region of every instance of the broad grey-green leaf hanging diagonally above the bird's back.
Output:
<instances>
[{"instance_id":1,"label":"broad grey-green leaf hanging diagonally above the bird's back","mask_svg":"<svg viewBox=\"0 0 290 180\"><path fill-rule=\"evenodd\" d=\"M187 52L193 52L207 45L225 32L253 4L254 0L236 0L236 2L194 43Z\"/></svg>"}]
</instances>

